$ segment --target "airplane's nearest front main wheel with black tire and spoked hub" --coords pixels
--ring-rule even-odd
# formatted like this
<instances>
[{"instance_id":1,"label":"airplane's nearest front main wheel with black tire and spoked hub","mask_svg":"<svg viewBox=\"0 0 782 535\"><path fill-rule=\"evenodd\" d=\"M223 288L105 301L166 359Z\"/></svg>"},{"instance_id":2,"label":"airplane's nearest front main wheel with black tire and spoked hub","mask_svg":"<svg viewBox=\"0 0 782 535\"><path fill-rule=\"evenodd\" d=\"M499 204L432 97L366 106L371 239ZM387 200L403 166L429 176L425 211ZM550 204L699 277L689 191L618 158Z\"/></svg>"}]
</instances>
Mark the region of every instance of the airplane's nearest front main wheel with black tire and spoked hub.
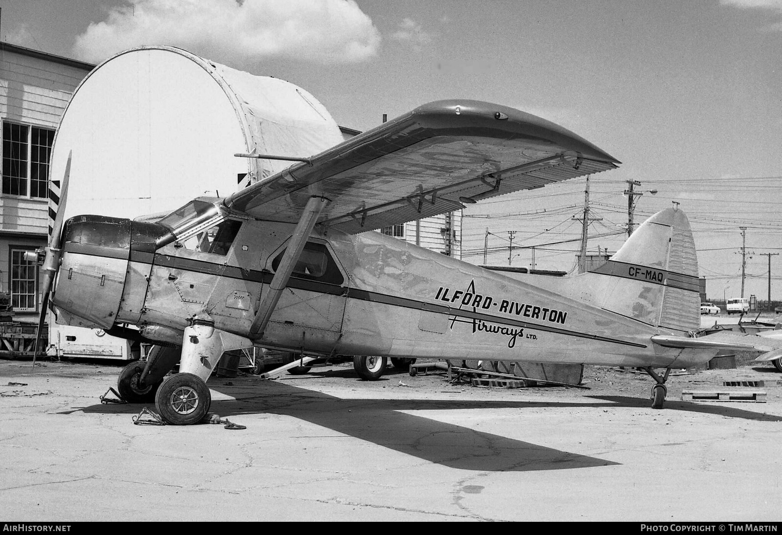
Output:
<instances>
[{"instance_id":1,"label":"airplane's nearest front main wheel with black tire and spoked hub","mask_svg":"<svg viewBox=\"0 0 782 535\"><path fill-rule=\"evenodd\" d=\"M200 422L212 404L206 382L192 373L177 373L163 380L155 404L160 416L172 425Z\"/></svg>"}]
</instances>

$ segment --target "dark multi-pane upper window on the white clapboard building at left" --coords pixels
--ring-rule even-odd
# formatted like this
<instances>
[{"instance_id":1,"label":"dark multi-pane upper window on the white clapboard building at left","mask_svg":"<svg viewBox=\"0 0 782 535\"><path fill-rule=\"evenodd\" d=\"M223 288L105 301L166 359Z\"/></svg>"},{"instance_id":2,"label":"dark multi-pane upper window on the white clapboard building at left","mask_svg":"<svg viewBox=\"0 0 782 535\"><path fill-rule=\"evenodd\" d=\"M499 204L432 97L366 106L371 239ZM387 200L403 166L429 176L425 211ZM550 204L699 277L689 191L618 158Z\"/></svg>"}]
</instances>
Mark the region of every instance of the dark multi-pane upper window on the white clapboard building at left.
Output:
<instances>
[{"instance_id":1,"label":"dark multi-pane upper window on the white clapboard building at left","mask_svg":"<svg viewBox=\"0 0 782 535\"><path fill-rule=\"evenodd\" d=\"M49 156L54 131L24 124L2 124L2 192L48 198Z\"/></svg>"}]
</instances>

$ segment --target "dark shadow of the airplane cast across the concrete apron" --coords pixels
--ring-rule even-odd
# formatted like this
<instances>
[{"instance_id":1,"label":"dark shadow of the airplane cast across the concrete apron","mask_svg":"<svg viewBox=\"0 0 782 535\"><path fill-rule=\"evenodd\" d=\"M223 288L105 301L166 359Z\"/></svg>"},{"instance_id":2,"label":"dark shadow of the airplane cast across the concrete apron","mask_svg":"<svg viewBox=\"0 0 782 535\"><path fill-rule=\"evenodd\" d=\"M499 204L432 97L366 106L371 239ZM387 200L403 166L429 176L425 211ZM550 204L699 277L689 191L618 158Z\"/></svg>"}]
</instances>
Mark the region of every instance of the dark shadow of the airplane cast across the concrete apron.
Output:
<instances>
[{"instance_id":1,"label":"dark shadow of the airplane cast across the concrete apron","mask_svg":"<svg viewBox=\"0 0 782 535\"><path fill-rule=\"evenodd\" d=\"M210 388L218 392L225 391L229 395L232 392L225 384L210 382ZM242 390L244 388L245 386L242 386ZM255 389L256 386L250 388ZM263 392L259 392L257 396L213 400L210 411L223 417L230 415L231 421L235 423L241 423L236 421L235 417L244 414L288 415L425 461L455 469L483 472L579 469L618 463L401 411L547 407L649 408L649 400L625 396L585 396L596 400L595 403L586 404L511 400L346 400L280 382L266 382L262 388ZM141 407L139 404L96 404L74 411L136 415ZM663 410L701 412L763 422L782 421L780 416L687 401L667 401Z\"/></svg>"}]
</instances>

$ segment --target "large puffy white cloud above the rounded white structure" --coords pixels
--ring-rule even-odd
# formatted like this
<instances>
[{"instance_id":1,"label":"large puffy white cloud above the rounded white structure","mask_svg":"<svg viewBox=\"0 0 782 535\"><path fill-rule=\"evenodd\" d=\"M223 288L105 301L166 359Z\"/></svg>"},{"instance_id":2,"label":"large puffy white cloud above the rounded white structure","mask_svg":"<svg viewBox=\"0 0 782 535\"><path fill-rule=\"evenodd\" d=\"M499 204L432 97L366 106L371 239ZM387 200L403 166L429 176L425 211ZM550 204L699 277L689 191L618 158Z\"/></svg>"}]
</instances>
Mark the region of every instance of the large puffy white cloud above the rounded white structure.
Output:
<instances>
[{"instance_id":1,"label":"large puffy white cloud above the rounded white structure","mask_svg":"<svg viewBox=\"0 0 782 535\"><path fill-rule=\"evenodd\" d=\"M77 36L74 56L99 63L142 45L172 45L226 62L283 57L354 63L380 32L353 0L128 0Z\"/></svg>"}]
</instances>

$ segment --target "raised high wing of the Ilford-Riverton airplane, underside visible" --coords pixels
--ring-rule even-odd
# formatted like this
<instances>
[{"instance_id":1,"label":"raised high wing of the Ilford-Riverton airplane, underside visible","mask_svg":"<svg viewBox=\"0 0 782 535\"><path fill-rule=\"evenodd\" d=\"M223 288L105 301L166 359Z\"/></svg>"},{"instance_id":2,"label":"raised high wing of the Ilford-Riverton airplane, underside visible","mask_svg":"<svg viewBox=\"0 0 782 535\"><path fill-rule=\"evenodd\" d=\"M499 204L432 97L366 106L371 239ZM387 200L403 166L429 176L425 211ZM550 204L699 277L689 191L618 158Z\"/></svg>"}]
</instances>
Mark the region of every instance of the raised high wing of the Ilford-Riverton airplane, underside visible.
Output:
<instances>
[{"instance_id":1,"label":"raised high wing of the Ilford-Riverton airplane, underside visible","mask_svg":"<svg viewBox=\"0 0 782 535\"><path fill-rule=\"evenodd\" d=\"M296 155L301 156L301 155ZM619 160L557 124L473 100L420 106L225 199L267 221L300 220L349 234L459 210L464 203L613 169Z\"/></svg>"}]
</instances>

